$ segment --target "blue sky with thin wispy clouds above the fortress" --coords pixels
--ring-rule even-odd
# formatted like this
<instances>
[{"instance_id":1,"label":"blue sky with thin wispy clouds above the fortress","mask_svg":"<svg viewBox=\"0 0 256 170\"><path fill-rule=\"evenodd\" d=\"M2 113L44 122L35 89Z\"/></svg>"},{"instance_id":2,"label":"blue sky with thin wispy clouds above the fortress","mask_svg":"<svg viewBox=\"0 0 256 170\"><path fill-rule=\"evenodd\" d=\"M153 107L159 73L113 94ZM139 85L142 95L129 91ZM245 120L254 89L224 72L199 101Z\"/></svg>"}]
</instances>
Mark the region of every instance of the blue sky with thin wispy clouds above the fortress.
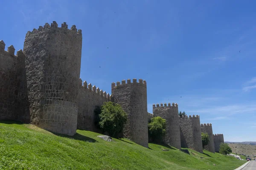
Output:
<instances>
[{"instance_id":1,"label":"blue sky with thin wispy clouds above the fortress","mask_svg":"<svg viewBox=\"0 0 256 170\"><path fill-rule=\"evenodd\" d=\"M0 39L17 51L44 23L76 25L83 81L111 94L111 82L145 79L148 112L177 102L225 141L256 141L255 7L247 0L2 0Z\"/></svg>"}]
</instances>

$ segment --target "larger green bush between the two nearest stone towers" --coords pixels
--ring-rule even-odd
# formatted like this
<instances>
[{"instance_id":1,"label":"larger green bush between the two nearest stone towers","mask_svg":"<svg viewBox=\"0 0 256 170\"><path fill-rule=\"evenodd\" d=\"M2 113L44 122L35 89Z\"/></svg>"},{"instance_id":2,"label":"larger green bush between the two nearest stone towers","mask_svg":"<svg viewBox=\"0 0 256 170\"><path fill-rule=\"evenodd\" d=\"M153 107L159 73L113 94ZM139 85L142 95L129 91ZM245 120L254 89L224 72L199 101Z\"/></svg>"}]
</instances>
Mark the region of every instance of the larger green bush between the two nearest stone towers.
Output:
<instances>
[{"instance_id":1,"label":"larger green bush between the two nearest stone towers","mask_svg":"<svg viewBox=\"0 0 256 170\"><path fill-rule=\"evenodd\" d=\"M112 137L117 137L127 121L127 113L113 102L104 102L99 114L99 127Z\"/></svg>"}]
</instances>

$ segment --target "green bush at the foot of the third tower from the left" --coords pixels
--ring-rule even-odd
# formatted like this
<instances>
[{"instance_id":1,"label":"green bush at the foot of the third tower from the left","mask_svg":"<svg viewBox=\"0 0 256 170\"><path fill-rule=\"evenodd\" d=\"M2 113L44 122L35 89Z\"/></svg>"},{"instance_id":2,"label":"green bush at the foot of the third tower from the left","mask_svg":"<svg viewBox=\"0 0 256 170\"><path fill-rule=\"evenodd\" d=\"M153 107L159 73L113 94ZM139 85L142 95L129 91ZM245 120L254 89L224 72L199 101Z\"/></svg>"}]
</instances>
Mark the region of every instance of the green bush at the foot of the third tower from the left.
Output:
<instances>
[{"instance_id":1,"label":"green bush at the foot of the third tower from the left","mask_svg":"<svg viewBox=\"0 0 256 170\"><path fill-rule=\"evenodd\" d=\"M154 142L161 142L166 134L166 119L153 117L148 123L148 135Z\"/></svg>"}]
</instances>

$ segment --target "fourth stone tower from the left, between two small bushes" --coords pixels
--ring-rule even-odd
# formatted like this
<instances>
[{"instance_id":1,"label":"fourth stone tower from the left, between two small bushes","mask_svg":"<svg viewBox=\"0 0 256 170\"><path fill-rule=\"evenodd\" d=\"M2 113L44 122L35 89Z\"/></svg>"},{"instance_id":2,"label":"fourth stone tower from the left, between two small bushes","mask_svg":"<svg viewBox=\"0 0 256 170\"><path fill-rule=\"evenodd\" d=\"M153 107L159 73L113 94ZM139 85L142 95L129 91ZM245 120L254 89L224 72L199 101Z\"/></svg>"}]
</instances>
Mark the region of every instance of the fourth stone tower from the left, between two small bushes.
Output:
<instances>
[{"instance_id":1,"label":"fourth stone tower from the left, between two small bushes","mask_svg":"<svg viewBox=\"0 0 256 170\"><path fill-rule=\"evenodd\" d=\"M189 115L180 119L180 143L181 147L188 147L203 153L200 116Z\"/></svg>"}]
</instances>

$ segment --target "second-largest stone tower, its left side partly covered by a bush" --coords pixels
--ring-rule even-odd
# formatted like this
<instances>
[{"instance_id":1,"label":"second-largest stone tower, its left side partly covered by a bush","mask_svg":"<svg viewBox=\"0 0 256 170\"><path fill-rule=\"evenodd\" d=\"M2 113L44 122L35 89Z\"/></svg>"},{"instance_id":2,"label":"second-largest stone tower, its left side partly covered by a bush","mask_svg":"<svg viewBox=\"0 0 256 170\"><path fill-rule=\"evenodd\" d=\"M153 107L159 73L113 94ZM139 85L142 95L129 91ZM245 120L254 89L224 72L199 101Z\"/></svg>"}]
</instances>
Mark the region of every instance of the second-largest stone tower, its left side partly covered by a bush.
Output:
<instances>
[{"instance_id":1,"label":"second-largest stone tower, its left side partly covered by a bush","mask_svg":"<svg viewBox=\"0 0 256 170\"><path fill-rule=\"evenodd\" d=\"M128 121L123 130L123 136L137 144L148 147L148 108L146 81L139 79L122 80L112 83L112 101L122 106L128 113Z\"/></svg>"}]
</instances>

